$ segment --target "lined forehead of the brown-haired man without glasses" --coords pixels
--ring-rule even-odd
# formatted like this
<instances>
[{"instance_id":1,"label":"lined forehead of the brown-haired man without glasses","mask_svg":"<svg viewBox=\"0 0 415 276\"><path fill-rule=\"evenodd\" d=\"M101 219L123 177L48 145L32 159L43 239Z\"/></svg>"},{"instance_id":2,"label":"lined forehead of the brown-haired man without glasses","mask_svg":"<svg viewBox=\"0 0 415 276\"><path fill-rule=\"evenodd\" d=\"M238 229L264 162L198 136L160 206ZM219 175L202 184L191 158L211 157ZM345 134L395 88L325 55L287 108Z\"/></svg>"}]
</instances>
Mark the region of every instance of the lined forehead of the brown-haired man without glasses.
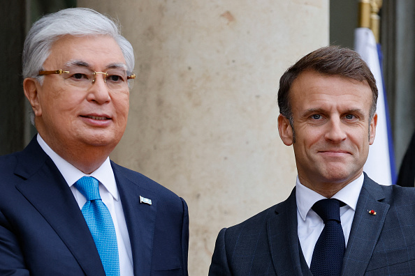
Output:
<instances>
[{"instance_id":1,"label":"lined forehead of the brown-haired man without glasses","mask_svg":"<svg viewBox=\"0 0 415 276\"><path fill-rule=\"evenodd\" d=\"M324 75L312 70L302 72L290 90L295 109L362 109L370 111L372 90L367 82L349 77Z\"/></svg>"}]
</instances>

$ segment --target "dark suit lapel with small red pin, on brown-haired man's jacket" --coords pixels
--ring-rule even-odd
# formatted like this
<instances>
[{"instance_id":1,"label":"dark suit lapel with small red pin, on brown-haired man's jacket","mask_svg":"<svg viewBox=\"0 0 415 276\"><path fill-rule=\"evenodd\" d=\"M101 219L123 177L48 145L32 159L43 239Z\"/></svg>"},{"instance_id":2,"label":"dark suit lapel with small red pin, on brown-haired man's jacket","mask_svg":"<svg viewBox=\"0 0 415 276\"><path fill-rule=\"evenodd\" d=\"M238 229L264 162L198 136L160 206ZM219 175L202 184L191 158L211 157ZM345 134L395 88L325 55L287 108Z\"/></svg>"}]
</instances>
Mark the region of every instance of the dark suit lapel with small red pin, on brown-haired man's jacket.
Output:
<instances>
[{"instance_id":1,"label":"dark suit lapel with small red pin, on brown-haired man's jacket","mask_svg":"<svg viewBox=\"0 0 415 276\"><path fill-rule=\"evenodd\" d=\"M388 204L379 202L384 198L381 187L365 174L344 253L342 275L365 274L389 210ZM376 215L371 215L370 210L374 210Z\"/></svg>"}]
</instances>

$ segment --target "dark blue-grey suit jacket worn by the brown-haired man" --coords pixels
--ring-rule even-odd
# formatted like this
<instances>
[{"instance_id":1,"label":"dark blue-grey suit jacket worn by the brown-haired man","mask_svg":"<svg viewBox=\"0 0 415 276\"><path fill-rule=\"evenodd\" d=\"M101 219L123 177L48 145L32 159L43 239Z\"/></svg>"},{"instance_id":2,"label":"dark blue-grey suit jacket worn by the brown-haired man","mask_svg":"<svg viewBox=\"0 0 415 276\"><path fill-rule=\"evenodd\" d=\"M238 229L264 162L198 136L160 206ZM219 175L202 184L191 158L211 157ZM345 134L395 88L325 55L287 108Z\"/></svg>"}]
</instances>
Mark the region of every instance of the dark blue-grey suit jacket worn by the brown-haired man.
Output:
<instances>
[{"instance_id":1,"label":"dark blue-grey suit jacket worn by the brown-haired man","mask_svg":"<svg viewBox=\"0 0 415 276\"><path fill-rule=\"evenodd\" d=\"M286 201L220 231L209 275L312 275L298 240L295 188ZM415 189L365 174L342 275L415 275Z\"/></svg>"}]
</instances>

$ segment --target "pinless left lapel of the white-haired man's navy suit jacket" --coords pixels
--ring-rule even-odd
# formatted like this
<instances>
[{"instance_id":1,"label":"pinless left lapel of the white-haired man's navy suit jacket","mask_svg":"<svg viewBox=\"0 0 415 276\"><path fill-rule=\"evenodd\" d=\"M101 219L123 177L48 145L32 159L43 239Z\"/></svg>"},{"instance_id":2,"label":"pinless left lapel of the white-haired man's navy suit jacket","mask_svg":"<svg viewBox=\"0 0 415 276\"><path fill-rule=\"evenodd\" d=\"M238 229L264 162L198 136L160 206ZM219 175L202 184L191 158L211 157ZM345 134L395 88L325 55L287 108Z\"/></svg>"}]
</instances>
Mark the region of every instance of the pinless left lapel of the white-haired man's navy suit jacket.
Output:
<instances>
[{"instance_id":1,"label":"pinless left lapel of the white-haired man's navy suit jacket","mask_svg":"<svg viewBox=\"0 0 415 276\"><path fill-rule=\"evenodd\" d=\"M71 189L36 137L19 155L16 185L54 229L86 275L105 275L94 240Z\"/></svg>"}]
</instances>

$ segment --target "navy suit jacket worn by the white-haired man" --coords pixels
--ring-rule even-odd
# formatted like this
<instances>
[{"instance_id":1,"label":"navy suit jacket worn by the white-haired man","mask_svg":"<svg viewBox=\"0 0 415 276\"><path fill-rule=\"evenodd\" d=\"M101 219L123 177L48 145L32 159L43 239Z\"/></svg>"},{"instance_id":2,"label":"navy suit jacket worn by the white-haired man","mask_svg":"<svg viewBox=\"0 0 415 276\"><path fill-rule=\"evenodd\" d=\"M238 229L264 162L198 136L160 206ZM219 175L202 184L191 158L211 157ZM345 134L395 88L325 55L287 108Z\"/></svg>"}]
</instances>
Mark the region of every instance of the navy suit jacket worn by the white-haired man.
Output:
<instances>
[{"instance_id":1,"label":"navy suit jacket worn by the white-haired man","mask_svg":"<svg viewBox=\"0 0 415 276\"><path fill-rule=\"evenodd\" d=\"M129 231L134 275L187 275L183 199L111 162ZM139 197L152 200L140 204ZM105 276L70 187L36 137L0 157L0 275Z\"/></svg>"}]
</instances>

